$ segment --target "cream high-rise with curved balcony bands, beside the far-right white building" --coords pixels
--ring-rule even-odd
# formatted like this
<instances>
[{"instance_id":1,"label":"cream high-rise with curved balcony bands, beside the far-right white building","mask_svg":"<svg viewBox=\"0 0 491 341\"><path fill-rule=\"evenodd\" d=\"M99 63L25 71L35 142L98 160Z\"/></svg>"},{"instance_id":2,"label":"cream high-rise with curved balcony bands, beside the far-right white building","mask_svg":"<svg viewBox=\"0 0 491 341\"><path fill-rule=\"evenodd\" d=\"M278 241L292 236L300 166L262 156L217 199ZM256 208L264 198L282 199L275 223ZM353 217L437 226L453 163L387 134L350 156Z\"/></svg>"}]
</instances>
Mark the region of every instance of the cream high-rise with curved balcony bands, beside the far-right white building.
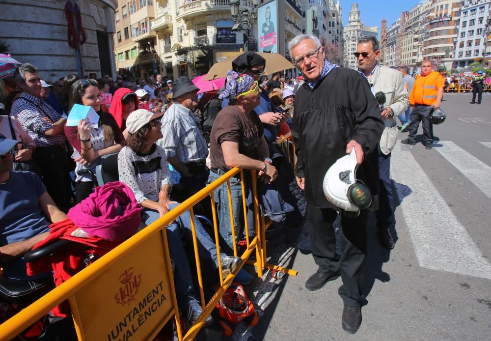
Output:
<instances>
[{"instance_id":1,"label":"cream high-rise with curved balcony bands, beside the far-right white building","mask_svg":"<svg viewBox=\"0 0 491 341\"><path fill-rule=\"evenodd\" d=\"M426 24L428 35L423 42L423 58L432 60L435 69L440 65L445 65L447 70L452 67L461 6L460 0L431 0L428 10L429 21Z\"/></svg>"}]
</instances>

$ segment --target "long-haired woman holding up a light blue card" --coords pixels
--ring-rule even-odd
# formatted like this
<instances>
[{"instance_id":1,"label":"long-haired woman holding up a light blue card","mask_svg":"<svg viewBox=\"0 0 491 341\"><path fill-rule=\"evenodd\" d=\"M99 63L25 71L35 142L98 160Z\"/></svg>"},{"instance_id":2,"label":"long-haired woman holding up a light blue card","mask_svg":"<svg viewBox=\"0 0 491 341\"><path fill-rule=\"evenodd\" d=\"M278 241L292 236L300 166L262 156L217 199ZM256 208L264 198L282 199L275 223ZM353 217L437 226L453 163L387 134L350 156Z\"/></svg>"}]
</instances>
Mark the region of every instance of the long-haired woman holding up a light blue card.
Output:
<instances>
[{"instance_id":1,"label":"long-haired woman holding up a light blue card","mask_svg":"<svg viewBox=\"0 0 491 341\"><path fill-rule=\"evenodd\" d=\"M77 202L81 202L97 186L93 174L101 160L100 157L120 151L124 137L114 117L101 108L97 81L89 79L75 82L70 90L70 110L74 104L90 106L100 117L99 122L81 119L77 127L65 126L65 135L75 149L72 155L77 162L75 192ZM97 128L90 126L94 123L98 123Z\"/></svg>"}]
</instances>

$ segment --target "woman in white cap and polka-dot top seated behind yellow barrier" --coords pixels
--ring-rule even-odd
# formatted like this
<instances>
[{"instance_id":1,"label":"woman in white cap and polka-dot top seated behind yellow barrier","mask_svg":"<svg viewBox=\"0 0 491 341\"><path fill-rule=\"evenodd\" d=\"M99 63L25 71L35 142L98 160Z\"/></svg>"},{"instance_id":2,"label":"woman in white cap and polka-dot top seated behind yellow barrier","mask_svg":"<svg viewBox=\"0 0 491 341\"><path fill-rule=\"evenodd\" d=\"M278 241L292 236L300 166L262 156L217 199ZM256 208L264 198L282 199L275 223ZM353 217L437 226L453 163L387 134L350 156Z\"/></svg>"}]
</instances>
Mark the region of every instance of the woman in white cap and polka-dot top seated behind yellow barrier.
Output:
<instances>
[{"instance_id":1,"label":"woman in white cap and polka-dot top seated behind yellow barrier","mask_svg":"<svg viewBox=\"0 0 491 341\"><path fill-rule=\"evenodd\" d=\"M162 113L153 114L144 109L131 113L126 120L129 132L127 145L121 149L118 156L119 179L133 190L136 201L143 207L145 226L179 205L179 202L170 198L172 185L164 149L155 143L163 138L162 123L159 120L161 116ZM200 258L212 259L218 267L215 243L197 219L195 229ZM181 240L182 236L188 241L192 240L189 211L171 222L166 227L166 234L170 256L175 263L174 282L178 305L192 324L202 313L202 309L196 299L188 257ZM234 272L241 262L239 257L221 254L223 274ZM205 325L211 322L212 317L209 316Z\"/></svg>"}]
</instances>

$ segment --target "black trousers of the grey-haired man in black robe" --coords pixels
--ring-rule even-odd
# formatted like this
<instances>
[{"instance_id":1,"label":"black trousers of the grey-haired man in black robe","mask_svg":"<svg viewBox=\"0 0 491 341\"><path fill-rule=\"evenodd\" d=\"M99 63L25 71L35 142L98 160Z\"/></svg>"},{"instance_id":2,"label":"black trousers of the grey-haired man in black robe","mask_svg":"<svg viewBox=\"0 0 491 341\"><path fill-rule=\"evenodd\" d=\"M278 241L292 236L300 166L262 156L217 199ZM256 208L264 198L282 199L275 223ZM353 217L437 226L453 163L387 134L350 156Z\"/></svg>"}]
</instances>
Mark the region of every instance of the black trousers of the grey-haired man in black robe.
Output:
<instances>
[{"instance_id":1,"label":"black trousers of the grey-haired man in black robe","mask_svg":"<svg viewBox=\"0 0 491 341\"><path fill-rule=\"evenodd\" d=\"M337 212L317 208L307 203L307 222L310 227L312 256L319 272L327 275L341 274L343 285L338 293L346 306L361 306L365 301L362 286L367 257L367 213L356 218L341 215L341 256L336 255L336 237L332 223Z\"/></svg>"}]
</instances>

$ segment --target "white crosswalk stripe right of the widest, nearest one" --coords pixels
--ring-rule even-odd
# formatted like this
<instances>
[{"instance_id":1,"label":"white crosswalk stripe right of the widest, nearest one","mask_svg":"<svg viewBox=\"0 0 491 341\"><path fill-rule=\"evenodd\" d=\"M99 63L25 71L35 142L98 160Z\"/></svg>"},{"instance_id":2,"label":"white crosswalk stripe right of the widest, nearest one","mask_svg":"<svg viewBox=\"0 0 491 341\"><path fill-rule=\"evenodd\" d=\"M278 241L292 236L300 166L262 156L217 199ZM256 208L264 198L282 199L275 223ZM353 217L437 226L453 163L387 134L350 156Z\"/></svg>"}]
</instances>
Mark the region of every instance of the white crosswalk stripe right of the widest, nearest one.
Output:
<instances>
[{"instance_id":1,"label":"white crosswalk stripe right of the widest, nearest one","mask_svg":"<svg viewBox=\"0 0 491 341\"><path fill-rule=\"evenodd\" d=\"M491 167L454 142L439 141L438 143L443 147L435 148L435 150L491 199Z\"/></svg>"}]
</instances>

